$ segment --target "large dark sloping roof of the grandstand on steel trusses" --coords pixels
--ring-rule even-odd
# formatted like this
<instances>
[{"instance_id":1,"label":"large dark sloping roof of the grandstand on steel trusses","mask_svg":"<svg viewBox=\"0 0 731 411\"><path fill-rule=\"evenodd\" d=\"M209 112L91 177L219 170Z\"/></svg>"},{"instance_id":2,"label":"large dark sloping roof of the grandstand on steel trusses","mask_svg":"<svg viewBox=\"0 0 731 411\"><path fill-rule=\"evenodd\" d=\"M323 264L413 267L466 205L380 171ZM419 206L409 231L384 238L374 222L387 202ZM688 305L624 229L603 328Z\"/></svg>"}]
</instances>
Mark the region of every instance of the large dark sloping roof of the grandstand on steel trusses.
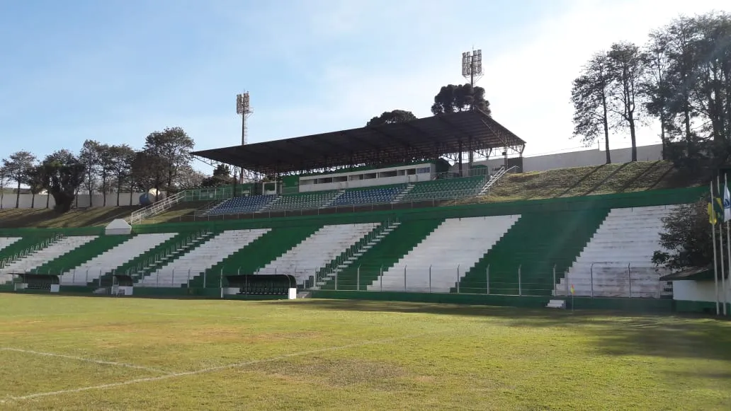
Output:
<instances>
[{"instance_id":1,"label":"large dark sloping roof of the grandstand on steel trusses","mask_svg":"<svg viewBox=\"0 0 731 411\"><path fill-rule=\"evenodd\" d=\"M262 174L276 174L418 161L470 149L507 147L523 153L525 145L526 142L485 112L473 110L193 154Z\"/></svg>"}]
</instances>

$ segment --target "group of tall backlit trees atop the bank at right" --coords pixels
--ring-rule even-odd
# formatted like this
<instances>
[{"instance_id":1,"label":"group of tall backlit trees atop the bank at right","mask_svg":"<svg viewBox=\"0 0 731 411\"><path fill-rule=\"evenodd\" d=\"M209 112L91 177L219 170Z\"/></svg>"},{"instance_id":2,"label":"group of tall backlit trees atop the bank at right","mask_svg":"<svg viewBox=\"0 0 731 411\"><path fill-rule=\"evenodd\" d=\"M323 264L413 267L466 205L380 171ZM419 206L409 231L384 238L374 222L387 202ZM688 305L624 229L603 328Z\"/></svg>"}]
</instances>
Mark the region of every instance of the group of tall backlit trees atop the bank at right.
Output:
<instances>
[{"instance_id":1,"label":"group of tall backlit trees atop the bank at right","mask_svg":"<svg viewBox=\"0 0 731 411\"><path fill-rule=\"evenodd\" d=\"M731 15L681 16L643 45L616 42L595 53L572 85L574 136L587 145L659 124L664 158L692 169L731 155Z\"/></svg>"}]
</instances>

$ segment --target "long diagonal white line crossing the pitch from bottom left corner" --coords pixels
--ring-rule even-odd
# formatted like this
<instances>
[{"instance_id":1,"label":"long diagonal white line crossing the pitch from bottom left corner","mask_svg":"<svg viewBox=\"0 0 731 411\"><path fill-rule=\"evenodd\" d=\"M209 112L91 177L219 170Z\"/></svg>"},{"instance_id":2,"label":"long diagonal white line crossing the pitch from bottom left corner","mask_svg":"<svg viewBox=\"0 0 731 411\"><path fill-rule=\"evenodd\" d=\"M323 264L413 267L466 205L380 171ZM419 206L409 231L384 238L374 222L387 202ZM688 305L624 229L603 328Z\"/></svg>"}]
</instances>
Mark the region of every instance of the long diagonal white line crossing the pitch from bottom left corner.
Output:
<instances>
[{"instance_id":1,"label":"long diagonal white line crossing the pitch from bottom left corner","mask_svg":"<svg viewBox=\"0 0 731 411\"><path fill-rule=\"evenodd\" d=\"M210 368L199 369L197 371L175 372L173 374L161 375L159 377L146 377L146 378L137 378L135 380L122 381L121 383L108 383L108 384L101 384L101 385L93 385L91 387L72 388L69 390L52 391L52 392L48 392L48 393L34 393L34 394L26 395L26 396L8 396L6 398L10 399L10 400L14 400L14 401L20 401L20 400L24 400L24 399L36 399L36 398L43 397L43 396L56 396L56 395L66 394L66 393L79 393L82 391L99 390L99 389L104 389L104 388L114 388L114 387L120 387L122 385L130 385L130 384L137 384L137 383L151 383L153 381L167 380L168 378L186 377L189 375L196 375L196 374L206 374L208 372L217 372L217 371L222 371L224 369L232 369L232 368L238 368L238 367L242 367L242 366L268 363L268 362L284 360L284 359L292 358L292 357L308 356L308 355L317 354L317 353L327 353L329 351L346 350L347 348L363 347L364 345L382 344L385 342L393 342L393 341L398 341L401 339L424 337L426 335L440 334L440 333L444 333L444 332L447 332L447 331L435 331L435 332L428 332L428 333L422 333L422 334L412 334L412 335L406 335L404 337L389 337L389 338L384 338L384 339L373 339L373 340L369 340L369 341L355 342L353 344L338 345L336 347L326 347L326 348L320 348L318 350L300 351L298 353L284 354L282 356L262 358L260 360L251 360L251 361L243 361L243 362L234 363L234 364L212 366ZM449 331L449 332L451 332L451 331Z\"/></svg>"}]
</instances>

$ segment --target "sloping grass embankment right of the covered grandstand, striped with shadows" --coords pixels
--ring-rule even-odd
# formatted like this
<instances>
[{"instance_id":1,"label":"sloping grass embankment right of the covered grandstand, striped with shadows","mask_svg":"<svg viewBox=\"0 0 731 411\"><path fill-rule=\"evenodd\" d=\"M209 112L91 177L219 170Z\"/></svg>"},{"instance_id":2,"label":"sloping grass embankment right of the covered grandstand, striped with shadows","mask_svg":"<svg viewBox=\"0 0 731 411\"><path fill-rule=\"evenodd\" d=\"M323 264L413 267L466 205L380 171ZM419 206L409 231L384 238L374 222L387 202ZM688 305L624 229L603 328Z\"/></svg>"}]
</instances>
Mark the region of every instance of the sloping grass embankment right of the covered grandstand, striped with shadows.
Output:
<instances>
[{"instance_id":1,"label":"sloping grass embankment right of the covered grandstand, striped with shadows","mask_svg":"<svg viewBox=\"0 0 731 411\"><path fill-rule=\"evenodd\" d=\"M467 204L630 193L690 187L702 181L702 176L678 171L668 161L637 161L507 174L491 188L488 195L463 199L461 202Z\"/></svg>"}]
</instances>

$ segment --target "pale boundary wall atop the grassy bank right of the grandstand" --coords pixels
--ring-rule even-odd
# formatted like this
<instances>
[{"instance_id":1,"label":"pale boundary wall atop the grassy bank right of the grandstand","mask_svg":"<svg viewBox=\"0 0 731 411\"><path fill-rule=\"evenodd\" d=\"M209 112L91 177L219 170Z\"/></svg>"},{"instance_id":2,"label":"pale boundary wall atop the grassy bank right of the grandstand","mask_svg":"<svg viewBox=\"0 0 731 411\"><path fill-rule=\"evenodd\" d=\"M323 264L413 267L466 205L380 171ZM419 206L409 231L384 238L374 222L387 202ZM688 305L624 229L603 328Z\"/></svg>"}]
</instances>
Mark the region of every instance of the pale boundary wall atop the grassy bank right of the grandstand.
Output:
<instances>
[{"instance_id":1,"label":"pale boundary wall atop the grassy bank right of the grandstand","mask_svg":"<svg viewBox=\"0 0 731 411\"><path fill-rule=\"evenodd\" d=\"M629 163L632 160L631 148L617 148L610 150L613 163ZM644 145L637 147L638 161L662 160L662 145ZM504 158L493 158L488 161L476 161L474 164L488 166L491 170L504 164ZM543 172L550 169L564 169L567 167L600 166L607 162L604 150L580 150L571 153L556 153L536 155L523 158L523 172Z\"/></svg>"}]
</instances>

